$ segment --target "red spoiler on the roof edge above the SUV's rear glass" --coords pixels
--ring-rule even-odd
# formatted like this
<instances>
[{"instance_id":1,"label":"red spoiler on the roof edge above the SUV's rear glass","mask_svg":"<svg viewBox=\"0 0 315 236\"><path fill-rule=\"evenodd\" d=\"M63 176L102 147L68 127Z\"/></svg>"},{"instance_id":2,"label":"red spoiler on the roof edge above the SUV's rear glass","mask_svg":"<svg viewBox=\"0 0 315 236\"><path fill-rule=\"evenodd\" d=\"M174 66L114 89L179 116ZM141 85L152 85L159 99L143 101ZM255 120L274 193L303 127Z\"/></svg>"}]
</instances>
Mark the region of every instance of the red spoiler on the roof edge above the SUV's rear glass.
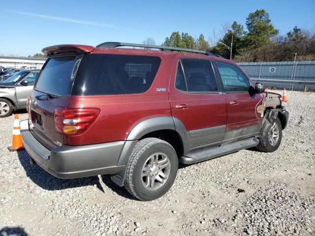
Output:
<instances>
[{"instance_id":1,"label":"red spoiler on the roof edge above the SUV's rear glass","mask_svg":"<svg viewBox=\"0 0 315 236\"><path fill-rule=\"evenodd\" d=\"M47 56L52 56L64 53L91 53L93 50L93 46L63 44L43 48L41 51L47 54Z\"/></svg>"}]
</instances>

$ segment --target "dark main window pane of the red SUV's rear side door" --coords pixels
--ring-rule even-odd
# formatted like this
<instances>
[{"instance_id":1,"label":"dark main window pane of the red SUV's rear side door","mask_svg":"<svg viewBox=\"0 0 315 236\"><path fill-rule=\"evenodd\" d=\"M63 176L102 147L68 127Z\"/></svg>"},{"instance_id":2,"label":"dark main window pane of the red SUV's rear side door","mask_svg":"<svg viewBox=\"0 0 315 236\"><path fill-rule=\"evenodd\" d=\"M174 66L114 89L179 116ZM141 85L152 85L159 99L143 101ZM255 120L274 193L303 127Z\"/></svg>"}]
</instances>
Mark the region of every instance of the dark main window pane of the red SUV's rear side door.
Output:
<instances>
[{"instance_id":1,"label":"dark main window pane of the red SUV's rear side door","mask_svg":"<svg viewBox=\"0 0 315 236\"><path fill-rule=\"evenodd\" d=\"M182 60L188 91L218 91L218 86L210 60Z\"/></svg>"}]
</instances>

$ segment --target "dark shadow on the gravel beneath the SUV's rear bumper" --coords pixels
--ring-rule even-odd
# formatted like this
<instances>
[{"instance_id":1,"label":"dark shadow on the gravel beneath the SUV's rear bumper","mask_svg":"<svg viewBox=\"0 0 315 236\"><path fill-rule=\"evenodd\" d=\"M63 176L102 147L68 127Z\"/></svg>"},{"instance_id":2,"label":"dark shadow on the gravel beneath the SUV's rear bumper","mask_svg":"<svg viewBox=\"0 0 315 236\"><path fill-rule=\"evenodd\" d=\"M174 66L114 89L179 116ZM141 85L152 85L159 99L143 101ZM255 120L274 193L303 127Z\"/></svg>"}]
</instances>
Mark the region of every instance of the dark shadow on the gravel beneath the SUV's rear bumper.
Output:
<instances>
[{"instance_id":1,"label":"dark shadow on the gravel beneath the SUV's rear bumper","mask_svg":"<svg viewBox=\"0 0 315 236\"><path fill-rule=\"evenodd\" d=\"M30 177L35 184L45 190L53 191L96 184L96 187L104 192L97 176L73 179L57 178L48 174L37 164L31 165L29 160L30 156L25 150L18 151L17 153L26 175Z\"/></svg>"}]
</instances>

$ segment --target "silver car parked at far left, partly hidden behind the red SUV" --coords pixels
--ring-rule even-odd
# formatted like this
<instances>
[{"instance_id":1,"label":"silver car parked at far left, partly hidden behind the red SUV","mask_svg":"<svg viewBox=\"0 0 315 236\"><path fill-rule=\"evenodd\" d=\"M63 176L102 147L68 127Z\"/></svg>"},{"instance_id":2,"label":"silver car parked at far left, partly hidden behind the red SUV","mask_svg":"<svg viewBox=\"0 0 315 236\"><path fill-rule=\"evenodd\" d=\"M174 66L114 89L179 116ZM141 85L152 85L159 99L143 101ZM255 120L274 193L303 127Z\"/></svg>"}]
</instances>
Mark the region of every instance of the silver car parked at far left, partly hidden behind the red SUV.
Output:
<instances>
[{"instance_id":1,"label":"silver car parked at far left, partly hidden behind the red SUV","mask_svg":"<svg viewBox=\"0 0 315 236\"><path fill-rule=\"evenodd\" d=\"M0 83L0 118L25 109L39 70L22 70Z\"/></svg>"}]
</instances>

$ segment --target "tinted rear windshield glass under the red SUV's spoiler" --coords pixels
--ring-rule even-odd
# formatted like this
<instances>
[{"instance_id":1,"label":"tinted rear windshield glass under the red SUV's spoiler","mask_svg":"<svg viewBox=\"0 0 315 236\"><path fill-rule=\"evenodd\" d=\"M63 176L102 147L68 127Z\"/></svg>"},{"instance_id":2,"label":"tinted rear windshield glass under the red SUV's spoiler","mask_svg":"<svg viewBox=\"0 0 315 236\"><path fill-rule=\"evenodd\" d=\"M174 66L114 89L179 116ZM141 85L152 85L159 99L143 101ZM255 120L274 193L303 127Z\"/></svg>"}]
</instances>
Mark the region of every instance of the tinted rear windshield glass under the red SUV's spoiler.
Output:
<instances>
[{"instance_id":1,"label":"tinted rear windshield glass under the red SUV's spoiler","mask_svg":"<svg viewBox=\"0 0 315 236\"><path fill-rule=\"evenodd\" d=\"M36 81L34 89L58 96L68 94L68 86L75 59L75 56L48 59Z\"/></svg>"}]
</instances>

